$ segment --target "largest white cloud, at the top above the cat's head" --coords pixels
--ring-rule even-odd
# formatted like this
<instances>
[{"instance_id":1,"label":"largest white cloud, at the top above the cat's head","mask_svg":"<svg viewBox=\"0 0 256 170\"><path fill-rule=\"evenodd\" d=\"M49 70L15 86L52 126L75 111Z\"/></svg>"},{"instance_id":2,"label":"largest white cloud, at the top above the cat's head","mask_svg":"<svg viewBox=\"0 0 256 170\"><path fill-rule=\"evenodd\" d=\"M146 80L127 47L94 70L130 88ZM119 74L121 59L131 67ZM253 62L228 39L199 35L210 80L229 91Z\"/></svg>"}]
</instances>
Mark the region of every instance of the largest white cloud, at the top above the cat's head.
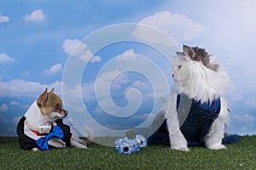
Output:
<instances>
[{"instance_id":1,"label":"largest white cloud, at the top above the cat's head","mask_svg":"<svg viewBox=\"0 0 256 170\"><path fill-rule=\"evenodd\" d=\"M200 23L190 20L183 14L172 14L168 11L162 11L150 15L143 20L139 21L141 25L153 26L160 31L165 32L168 36L172 37L174 41L183 42L192 38L198 37L204 31L204 27ZM160 35L156 31L145 29L144 26L137 26L133 35L140 40L146 42L162 42Z\"/></svg>"}]
</instances>

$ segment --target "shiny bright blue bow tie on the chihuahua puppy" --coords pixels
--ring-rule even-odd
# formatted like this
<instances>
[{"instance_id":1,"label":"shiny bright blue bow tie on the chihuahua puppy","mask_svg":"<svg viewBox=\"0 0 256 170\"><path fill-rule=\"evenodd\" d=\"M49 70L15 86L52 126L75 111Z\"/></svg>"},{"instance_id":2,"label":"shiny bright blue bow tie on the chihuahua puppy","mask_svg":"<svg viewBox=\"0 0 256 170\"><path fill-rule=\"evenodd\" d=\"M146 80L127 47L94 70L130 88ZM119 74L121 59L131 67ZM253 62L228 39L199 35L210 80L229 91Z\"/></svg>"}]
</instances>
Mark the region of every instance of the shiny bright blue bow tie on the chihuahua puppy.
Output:
<instances>
[{"instance_id":1,"label":"shiny bright blue bow tie on the chihuahua puppy","mask_svg":"<svg viewBox=\"0 0 256 170\"><path fill-rule=\"evenodd\" d=\"M55 127L53 127L51 132L47 134L45 137L37 139L36 143L38 144L38 147L41 150L49 150L48 140L52 138L60 138L60 139L64 138L64 133L61 127L56 125Z\"/></svg>"}]
</instances>

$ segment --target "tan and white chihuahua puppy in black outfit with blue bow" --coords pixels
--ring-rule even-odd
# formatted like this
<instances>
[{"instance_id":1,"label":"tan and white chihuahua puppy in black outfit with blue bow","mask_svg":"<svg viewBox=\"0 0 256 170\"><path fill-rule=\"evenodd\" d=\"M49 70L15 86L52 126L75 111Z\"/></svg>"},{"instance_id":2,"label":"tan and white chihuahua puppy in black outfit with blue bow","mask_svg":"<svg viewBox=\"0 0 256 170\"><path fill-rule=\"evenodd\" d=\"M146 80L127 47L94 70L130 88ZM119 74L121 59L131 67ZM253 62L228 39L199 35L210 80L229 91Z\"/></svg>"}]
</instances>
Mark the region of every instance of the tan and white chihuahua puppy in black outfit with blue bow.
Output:
<instances>
[{"instance_id":1,"label":"tan and white chihuahua puppy in black outfit with blue bow","mask_svg":"<svg viewBox=\"0 0 256 170\"><path fill-rule=\"evenodd\" d=\"M44 93L31 105L21 117L17 126L20 148L22 150L48 150L50 147L64 148L73 146L87 149L86 142L74 136L70 127L62 122L68 111L62 108L61 98L45 88ZM93 133L89 133L88 141L92 141ZM54 134L55 133L55 134ZM49 146L48 146L49 144Z\"/></svg>"}]
</instances>

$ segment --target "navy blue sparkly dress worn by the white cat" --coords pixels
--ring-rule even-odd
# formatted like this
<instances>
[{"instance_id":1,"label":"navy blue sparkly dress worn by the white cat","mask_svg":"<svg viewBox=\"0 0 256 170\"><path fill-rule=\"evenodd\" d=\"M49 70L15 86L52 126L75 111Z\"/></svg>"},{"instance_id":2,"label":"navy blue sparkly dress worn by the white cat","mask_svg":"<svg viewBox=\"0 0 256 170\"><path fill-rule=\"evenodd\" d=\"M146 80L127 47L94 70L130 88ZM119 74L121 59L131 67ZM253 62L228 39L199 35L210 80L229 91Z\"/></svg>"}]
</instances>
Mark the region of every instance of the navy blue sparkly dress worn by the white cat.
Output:
<instances>
[{"instance_id":1,"label":"navy blue sparkly dress worn by the white cat","mask_svg":"<svg viewBox=\"0 0 256 170\"><path fill-rule=\"evenodd\" d=\"M201 103L201 101L189 99L187 95L177 95L177 116L181 125L180 130L189 145L204 144L203 139L209 133L212 122L218 117L220 107L219 98L211 103ZM170 144L166 120L148 138L148 144Z\"/></svg>"}]
</instances>

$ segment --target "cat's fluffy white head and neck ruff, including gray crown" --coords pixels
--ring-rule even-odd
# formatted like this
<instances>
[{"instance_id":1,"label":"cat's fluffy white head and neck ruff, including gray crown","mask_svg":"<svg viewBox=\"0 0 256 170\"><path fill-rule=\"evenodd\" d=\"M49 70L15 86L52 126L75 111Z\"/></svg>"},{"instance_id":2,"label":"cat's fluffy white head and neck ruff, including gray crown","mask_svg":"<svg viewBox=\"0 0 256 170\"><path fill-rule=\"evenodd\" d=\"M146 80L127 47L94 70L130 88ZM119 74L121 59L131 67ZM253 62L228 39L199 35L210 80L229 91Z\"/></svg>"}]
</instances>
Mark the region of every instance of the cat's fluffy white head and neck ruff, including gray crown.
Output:
<instances>
[{"instance_id":1,"label":"cat's fluffy white head and neck ruff, including gray crown","mask_svg":"<svg viewBox=\"0 0 256 170\"><path fill-rule=\"evenodd\" d=\"M187 94L202 103L222 96L230 83L230 78L214 55L203 48L186 45L173 60L172 78L177 94Z\"/></svg>"}]
</instances>

